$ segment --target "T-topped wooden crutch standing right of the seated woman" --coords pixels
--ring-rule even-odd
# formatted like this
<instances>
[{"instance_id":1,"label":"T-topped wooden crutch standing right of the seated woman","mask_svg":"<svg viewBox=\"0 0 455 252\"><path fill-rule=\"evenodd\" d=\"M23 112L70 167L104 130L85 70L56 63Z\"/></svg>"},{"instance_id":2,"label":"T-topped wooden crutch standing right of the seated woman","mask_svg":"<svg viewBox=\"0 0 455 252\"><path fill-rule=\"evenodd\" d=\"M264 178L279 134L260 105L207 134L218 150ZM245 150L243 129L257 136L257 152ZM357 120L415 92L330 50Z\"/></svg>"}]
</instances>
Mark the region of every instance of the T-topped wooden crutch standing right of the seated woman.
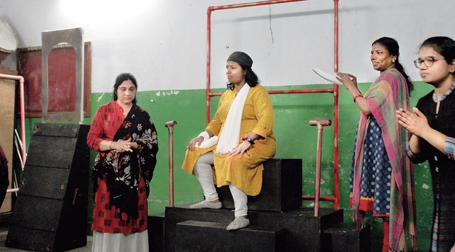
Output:
<instances>
[{"instance_id":1,"label":"T-topped wooden crutch standing right of the seated woman","mask_svg":"<svg viewBox=\"0 0 455 252\"><path fill-rule=\"evenodd\" d=\"M316 147L316 181L314 191L314 216L319 215L319 199L321 189L321 157L322 157L322 131L324 126L332 125L329 119L311 119L309 120L311 126L317 126L317 147Z\"/></svg>"}]
</instances>

